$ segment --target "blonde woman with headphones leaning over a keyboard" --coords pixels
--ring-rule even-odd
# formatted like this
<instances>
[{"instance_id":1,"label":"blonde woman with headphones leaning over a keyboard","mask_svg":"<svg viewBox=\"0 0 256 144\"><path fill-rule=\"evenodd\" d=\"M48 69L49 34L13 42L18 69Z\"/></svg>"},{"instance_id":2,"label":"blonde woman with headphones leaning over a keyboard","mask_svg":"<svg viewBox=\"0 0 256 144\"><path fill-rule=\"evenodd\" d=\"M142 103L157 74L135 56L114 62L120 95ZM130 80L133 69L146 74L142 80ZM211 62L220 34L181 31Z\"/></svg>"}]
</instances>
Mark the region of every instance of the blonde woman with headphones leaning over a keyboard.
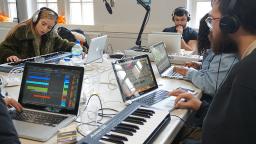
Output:
<instances>
[{"instance_id":1,"label":"blonde woman with headphones leaning over a keyboard","mask_svg":"<svg viewBox=\"0 0 256 144\"><path fill-rule=\"evenodd\" d=\"M16 25L0 44L0 63L18 62L57 51L71 51L75 43L62 39L54 30L57 19L55 11L42 7L31 19Z\"/></svg>"}]
</instances>

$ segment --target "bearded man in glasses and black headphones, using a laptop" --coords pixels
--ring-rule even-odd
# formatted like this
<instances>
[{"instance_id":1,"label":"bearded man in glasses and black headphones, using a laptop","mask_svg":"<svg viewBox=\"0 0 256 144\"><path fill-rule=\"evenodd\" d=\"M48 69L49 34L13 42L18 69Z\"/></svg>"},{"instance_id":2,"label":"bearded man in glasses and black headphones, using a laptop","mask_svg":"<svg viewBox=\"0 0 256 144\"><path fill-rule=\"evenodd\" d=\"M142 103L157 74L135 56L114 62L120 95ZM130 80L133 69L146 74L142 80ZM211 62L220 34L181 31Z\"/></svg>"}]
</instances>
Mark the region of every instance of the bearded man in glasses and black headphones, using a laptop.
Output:
<instances>
[{"instance_id":1,"label":"bearded man in glasses and black headphones, using a laptop","mask_svg":"<svg viewBox=\"0 0 256 144\"><path fill-rule=\"evenodd\" d=\"M204 117L202 144L255 143L256 121L256 1L212 0L206 19L212 29L213 47L230 41L236 46L239 62L231 69L212 103L176 90L176 108L189 108ZM233 48L233 47L230 47ZM185 101L180 101L185 99Z\"/></svg>"}]
</instances>

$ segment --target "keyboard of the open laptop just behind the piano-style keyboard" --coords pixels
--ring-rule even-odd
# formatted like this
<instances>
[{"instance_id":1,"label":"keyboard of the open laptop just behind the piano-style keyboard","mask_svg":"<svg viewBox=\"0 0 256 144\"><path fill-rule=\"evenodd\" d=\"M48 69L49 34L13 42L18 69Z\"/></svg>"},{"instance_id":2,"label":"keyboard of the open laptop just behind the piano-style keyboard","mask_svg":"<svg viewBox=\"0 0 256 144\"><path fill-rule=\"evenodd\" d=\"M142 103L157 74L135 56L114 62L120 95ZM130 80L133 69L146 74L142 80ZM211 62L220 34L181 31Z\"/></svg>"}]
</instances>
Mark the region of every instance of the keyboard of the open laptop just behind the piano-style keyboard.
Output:
<instances>
[{"instance_id":1,"label":"keyboard of the open laptop just behind the piano-style keyboard","mask_svg":"<svg viewBox=\"0 0 256 144\"><path fill-rule=\"evenodd\" d=\"M138 100L136 100L136 102L139 102L139 103L143 103L143 104L146 104L146 105L153 105L155 103L158 103L160 102L161 100L165 99L165 98L168 98L168 91L165 91L165 90L158 90L156 92L153 92L143 98L140 98Z\"/></svg>"}]
</instances>

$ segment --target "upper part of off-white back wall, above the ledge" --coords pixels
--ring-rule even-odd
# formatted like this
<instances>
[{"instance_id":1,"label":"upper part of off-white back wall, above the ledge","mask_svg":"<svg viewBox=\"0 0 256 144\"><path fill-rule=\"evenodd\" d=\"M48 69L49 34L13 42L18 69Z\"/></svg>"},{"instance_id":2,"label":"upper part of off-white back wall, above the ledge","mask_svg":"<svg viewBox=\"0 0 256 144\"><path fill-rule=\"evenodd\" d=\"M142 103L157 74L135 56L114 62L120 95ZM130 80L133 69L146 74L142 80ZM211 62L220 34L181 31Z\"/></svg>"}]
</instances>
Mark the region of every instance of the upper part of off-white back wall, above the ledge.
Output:
<instances>
[{"instance_id":1,"label":"upper part of off-white back wall, above the ledge","mask_svg":"<svg viewBox=\"0 0 256 144\"><path fill-rule=\"evenodd\" d=\"M104 25L116 31L138 32L146 10L136 0L116 0L113 14L108 14L101 0L95 1L95 25ZM170 26L171 13L178 6L186 6L186 0L152 0L151 15L145 31Z\"/></svg>"}]
</instances>

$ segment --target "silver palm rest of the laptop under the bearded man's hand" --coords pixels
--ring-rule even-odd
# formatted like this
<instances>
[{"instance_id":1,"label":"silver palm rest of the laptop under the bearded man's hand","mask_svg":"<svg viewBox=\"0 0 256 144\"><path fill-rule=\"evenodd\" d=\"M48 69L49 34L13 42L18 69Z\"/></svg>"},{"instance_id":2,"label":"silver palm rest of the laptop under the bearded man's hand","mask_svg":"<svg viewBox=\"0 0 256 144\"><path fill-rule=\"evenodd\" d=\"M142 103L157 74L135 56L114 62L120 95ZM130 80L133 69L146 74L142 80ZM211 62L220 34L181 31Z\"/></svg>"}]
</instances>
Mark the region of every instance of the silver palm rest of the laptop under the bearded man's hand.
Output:
<instances>
[{"instance_id":1,"label":"silver palm rest of the laptop under the bearded man's hand","mask_svg":"<svg viewBox=\"0 0 256 144\"><path fill-rule=\"evenodd\" d=\"M170 96L170 97L152 105L152 107L162 109L162 110L171 111L174 109L175 99L176 99L176 97Z\"/></svg>"}]
</instances>

